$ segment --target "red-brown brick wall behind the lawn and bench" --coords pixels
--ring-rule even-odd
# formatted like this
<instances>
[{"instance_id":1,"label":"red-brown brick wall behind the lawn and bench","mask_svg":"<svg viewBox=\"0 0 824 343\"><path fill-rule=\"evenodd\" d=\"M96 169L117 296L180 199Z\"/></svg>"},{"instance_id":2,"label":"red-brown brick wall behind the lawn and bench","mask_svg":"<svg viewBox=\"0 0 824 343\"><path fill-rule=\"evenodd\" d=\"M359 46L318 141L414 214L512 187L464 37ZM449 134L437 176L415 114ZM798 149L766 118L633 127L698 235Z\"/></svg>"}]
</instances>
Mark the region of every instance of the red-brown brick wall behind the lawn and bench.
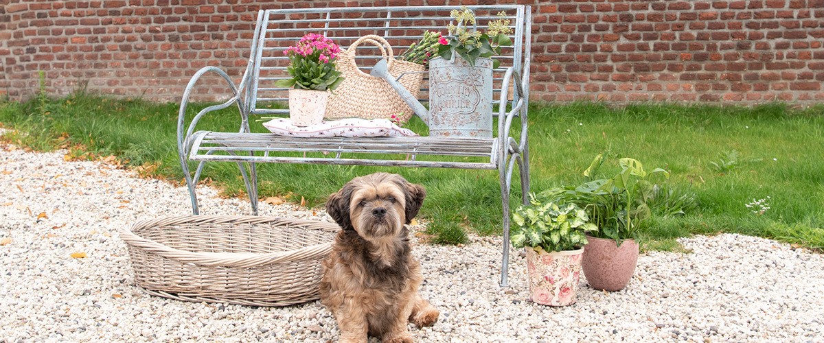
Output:
<instances>
[{"instance_id":1,"label":"red-brown brick wall behind the lawn and bench","mask_svg":"<svg viewBox=\"0 0 824 343\"><path fill-rule=\"evenodd\" d=\"M534 12L532 100L824 102L824 0L498 2L514 1ZM239 78L260 7L494 2L0 0L0 96L30 96L43 71L55 95L179 101L200 67Z\"/></svg>"}]
</instances>

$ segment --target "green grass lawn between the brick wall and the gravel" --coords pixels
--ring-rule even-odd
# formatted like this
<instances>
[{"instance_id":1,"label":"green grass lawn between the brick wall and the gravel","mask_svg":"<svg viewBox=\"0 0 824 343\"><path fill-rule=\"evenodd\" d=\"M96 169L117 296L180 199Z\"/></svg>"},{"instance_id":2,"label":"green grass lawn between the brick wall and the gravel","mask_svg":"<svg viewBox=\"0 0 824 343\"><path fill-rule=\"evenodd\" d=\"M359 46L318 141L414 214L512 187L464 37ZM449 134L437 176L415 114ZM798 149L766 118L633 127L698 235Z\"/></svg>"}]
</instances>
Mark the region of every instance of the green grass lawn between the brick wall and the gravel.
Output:
<instances>
[{"instance_id":1,"label":"green grass lawn between the brick wall and the gravel","mask_svg":"<svg viewBox=\"0 0 824 343\"><path fill-rule=\"evenodd\" d=\"M207 104L196 104L190 111ZM117 155L143 173L182 180L176 152L176 104L113 100L76 94L0 103L0 123L15 129L5 139L36 151L72 147L72 155ZM236 109L212 114L201 129L236 131ZM685 216L656 216L644 225L645 248L675 249L689 234L733 232L824 248L824 107L789 109L709 105L597 103L533 104L529 117L531 184L540 191L580 183L598 153L608 151L602 173L618 171L618 157L646 169L662 167L669 186L695 192L700 206ZM410 126L425 130L414 120ZM260 123L253 131L265 132ZM361 166L260 165L260 197L288 196L320 206L349 179L390 171L427 188L421 215L437 243L457 243L464 232L500 234L498 175L489 170L381 169ZM516 173L517 174L517 173ZM228 196L243 195L236 165L204 170ZM518 188L513 180L513 188ZM762 215L745 206L770 197ZM513 205L519 195L513 196ZM181 198L181 202L189 199Z\"/></svg>"}]
</instances>

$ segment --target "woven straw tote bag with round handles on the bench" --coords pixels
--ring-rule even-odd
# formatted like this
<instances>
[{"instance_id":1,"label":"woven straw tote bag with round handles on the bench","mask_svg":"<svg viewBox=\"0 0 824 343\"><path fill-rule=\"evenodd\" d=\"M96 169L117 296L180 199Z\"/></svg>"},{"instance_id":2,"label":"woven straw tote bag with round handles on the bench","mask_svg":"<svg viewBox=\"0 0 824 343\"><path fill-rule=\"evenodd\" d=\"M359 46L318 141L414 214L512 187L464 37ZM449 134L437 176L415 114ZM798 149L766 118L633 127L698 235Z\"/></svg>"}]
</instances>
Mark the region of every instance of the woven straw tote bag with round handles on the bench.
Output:
<instances>
[{"instance_id":1,"label":"woven straw tote bag with round handles on the bench","mask_svg":"<svg viewBox=\"0 0 824 343\"><path fill-rule=\"evenodd\" d=\"M325 118L388 119L395 115L400 121L409 120L414 111L400 99L397 91L381 77L362 72L355 64L355 49L362 43L381 49L381 56L387 58L392 76L397 78L404 72L419 72L406 74L398 81L413 95L417 96L419 93L420 84L424 80L424 74L420 72L424 72L424 66L396 60L386 39L378 35L364 35L338 56L337 68L345 79L335 89L335 93L330 95Z\"/></svg>"}]
</instances>

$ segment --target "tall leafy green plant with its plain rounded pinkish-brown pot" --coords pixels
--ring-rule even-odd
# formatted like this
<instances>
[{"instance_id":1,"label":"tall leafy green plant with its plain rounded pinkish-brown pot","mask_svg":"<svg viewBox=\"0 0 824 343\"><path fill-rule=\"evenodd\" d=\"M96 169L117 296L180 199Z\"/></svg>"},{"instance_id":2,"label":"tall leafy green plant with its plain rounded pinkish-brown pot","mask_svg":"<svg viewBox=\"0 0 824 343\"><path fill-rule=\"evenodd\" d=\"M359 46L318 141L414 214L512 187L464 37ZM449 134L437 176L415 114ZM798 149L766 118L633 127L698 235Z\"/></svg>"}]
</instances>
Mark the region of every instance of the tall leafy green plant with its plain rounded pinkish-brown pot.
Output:
<instances>
[{"instance_id":1,"label":"tall leafy green plant with its plain rounded pinkish-brown pot","mask_svg":"<svg viewBox=\"0 0 824 343\"><path fill-rule=\"evenodd\" d=\"M603 163L597 155L583 175L588 182L574 188L555 188L542 193L551 201L573 202L584 208L598 230L588 235L582 268L588 284L596 290L622 290L634 275L638 262L638 230L652 216L648 200L653 197L654 174L669 178L666 170L644 170L639 160L618 160L620 172L612 178L593 179Z\"/></svg>"}]
</instances>

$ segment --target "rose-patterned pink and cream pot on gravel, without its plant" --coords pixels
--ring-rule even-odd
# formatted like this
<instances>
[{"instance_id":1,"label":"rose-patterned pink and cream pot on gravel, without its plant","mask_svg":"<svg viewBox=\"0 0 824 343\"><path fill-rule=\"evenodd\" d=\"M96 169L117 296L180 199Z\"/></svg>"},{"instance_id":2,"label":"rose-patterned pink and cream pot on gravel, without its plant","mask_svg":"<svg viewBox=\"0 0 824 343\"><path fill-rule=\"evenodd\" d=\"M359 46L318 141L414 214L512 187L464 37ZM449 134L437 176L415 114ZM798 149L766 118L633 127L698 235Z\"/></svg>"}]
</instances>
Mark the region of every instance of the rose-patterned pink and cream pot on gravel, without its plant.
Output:
<instances>
[{"instance_id":1,"label":"rose-patterned pink and cream pot on gravel, without its plant","mask_svg":"<svg viewBox=\"0 0 824 343\"><path fill-rule=\"evenodd\" d=\"M550 306L575 304L583 248L551 253L540 247L525 249L532 301Z\"/></svg>"}]
</instances>

